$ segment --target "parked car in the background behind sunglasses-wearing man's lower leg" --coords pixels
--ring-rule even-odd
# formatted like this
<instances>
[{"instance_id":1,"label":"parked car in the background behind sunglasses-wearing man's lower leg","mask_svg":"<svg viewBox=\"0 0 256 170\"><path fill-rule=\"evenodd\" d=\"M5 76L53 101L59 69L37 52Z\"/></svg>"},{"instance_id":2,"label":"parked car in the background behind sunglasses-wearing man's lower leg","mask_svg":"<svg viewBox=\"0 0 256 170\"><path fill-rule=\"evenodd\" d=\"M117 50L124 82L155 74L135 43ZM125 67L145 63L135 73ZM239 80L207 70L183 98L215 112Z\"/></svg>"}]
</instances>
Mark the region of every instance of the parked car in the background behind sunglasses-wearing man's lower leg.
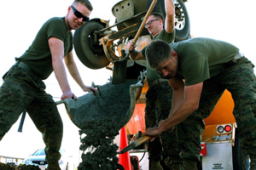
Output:
<instances>
[{"instance_id":1,"label":"parked car in the background behind sunglasses-wearing man's lower leg","mask_svg":"<svg viewBox=\"0 0 256 170\"><path fill-rule=\"evenodd\" d=\"M67 161L67 155L65 153L65 150L60 150L61 152L61 160L59 160L59 164L61 167L61 170L68 170L68 161ZM35 151L31 156L28 156L24 164L26 165L36 165L41 170L47 170L48 162L45 160L45 152L44 149L39 149Z\"/></svg>"}]
</instances>

